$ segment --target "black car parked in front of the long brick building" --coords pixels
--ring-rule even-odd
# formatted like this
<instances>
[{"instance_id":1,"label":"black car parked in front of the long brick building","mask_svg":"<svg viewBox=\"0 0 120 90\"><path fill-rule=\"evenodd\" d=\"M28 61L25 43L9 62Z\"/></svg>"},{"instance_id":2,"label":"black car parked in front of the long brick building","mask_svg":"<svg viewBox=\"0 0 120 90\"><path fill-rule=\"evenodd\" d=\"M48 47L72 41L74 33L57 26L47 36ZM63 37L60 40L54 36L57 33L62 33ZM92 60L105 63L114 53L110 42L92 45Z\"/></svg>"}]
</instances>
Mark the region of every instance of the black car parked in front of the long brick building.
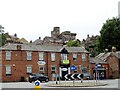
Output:
<instances>
[{"instance_id":1,"label":"black car parked in front of the long brick building","mask_svg":"<svg viewBox=\"0 0 120 90\"><path fill-rule=\"evenodd\" d=\"M45 76L43 74L31 74L29 75L29 82L32 83L33 81L39 80L40 82L45 81L48 82L49 78L48 76Z\"/></svg>"}]
</instances>

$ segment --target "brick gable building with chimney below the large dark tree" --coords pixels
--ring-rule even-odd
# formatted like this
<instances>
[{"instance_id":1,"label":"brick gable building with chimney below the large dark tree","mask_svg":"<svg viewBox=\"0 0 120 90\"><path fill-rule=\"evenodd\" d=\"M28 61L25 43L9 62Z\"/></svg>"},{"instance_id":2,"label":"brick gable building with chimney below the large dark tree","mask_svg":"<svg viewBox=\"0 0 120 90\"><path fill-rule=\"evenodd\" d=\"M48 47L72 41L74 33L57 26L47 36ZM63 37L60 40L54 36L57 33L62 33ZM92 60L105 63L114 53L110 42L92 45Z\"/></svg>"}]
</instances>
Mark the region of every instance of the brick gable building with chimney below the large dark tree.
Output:
<instances>
[{"instance_id":1,"label":"brick gable building with chimney below the large dark tree","mask_svg":"<svg viewBox=\"0 0 120 90\"><path fill-rule=\"evenodd\" d=\"M109 65L109 78L120 78L120 51L112 47L111 52L100 53L96 58Z\"/></svg>"}]
</instances>

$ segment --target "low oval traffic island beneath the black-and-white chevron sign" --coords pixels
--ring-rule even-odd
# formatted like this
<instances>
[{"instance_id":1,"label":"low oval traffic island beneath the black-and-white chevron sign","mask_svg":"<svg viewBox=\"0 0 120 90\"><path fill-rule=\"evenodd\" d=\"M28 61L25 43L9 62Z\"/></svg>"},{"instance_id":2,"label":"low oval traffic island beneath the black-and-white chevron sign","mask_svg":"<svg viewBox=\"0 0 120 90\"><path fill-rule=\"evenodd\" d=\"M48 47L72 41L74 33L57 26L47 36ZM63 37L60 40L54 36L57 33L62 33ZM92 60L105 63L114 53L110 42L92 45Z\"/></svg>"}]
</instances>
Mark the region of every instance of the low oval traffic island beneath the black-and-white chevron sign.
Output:
<instances>
[{"instance_id":1,"label":"low oval traffic island beneath the black-and-white chevron sign","mask_svg":"<svg viewBox=\"0 0 120 90\"><path fill-rule=\"evenodd\" d=\"M94 87L94 86L105 86L106 83L95 83L95 82L61 82L60 84L50 83L48 87Z\"/></svg>"}]
</instances>

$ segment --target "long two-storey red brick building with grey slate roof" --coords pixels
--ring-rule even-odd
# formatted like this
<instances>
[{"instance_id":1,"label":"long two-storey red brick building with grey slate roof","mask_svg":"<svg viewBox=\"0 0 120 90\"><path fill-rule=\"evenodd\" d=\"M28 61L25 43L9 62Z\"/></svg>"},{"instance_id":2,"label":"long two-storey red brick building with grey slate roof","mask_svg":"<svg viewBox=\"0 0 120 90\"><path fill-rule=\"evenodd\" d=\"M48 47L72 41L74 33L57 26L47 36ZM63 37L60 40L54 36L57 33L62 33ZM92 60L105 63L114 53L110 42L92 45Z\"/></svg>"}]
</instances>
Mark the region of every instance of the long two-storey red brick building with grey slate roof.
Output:
<instances>
[{"instance_id":1,"label":"long two-storey red brick building with grey slate roof","mask_svg":"<svg viewBox=\"0 0 120 90\"><path fill-rule=\"evenodd\" d=\"M2 81L27 80L30 73L43 73L50 80L55 74L62 79L66 74L88 73L89 53L83 47L43 46L32 44L6 44L0 48Z\"/></svg>"}]
</instances>

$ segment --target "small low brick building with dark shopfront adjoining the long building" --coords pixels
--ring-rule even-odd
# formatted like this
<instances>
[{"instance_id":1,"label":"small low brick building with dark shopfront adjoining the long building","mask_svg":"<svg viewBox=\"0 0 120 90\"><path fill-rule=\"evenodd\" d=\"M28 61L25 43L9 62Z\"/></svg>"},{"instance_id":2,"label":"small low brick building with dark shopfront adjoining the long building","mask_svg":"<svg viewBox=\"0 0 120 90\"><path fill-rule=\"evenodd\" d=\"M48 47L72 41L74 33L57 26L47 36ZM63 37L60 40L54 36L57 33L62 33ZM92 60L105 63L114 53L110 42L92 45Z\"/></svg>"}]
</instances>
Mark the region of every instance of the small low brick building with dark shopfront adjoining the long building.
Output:
<instances>
[{"instance_id":1,"label":"small low brick building with dark shopfront adjoining the long building","mask_svg":"<svg viewBox=\"0 0 120 90\"><path fill-rule=\"evenodd\" d=\"M97 72L95 69L96 64L98 64ZM99 79L108 79L109 64L99 58L90 58L90 78L95 79L96 73L99 75Z\"/></svg>"}]
</instances>

